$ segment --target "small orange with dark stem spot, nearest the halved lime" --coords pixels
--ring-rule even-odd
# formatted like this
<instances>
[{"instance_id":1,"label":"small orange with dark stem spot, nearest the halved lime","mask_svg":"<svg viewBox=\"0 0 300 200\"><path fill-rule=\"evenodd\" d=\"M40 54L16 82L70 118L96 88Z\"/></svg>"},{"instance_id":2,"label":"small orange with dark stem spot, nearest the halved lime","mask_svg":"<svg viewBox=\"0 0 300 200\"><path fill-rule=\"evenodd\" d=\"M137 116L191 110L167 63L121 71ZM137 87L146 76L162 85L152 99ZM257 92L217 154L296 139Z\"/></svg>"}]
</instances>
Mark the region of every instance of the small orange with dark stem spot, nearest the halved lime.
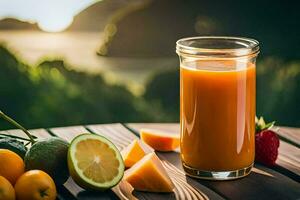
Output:
<instances>
[{"instance_id":1,"label":"small orange with dark stem spot, nearest the halved lime","mask_svg":"<svg viewBox=\"0 0 300 200\"><path fill-rule=\"evenodd\" d=\"M21 200L55 200L53 179L41 170L25 172L15 185L16 197Z\"/></svg>"}]
</instances>

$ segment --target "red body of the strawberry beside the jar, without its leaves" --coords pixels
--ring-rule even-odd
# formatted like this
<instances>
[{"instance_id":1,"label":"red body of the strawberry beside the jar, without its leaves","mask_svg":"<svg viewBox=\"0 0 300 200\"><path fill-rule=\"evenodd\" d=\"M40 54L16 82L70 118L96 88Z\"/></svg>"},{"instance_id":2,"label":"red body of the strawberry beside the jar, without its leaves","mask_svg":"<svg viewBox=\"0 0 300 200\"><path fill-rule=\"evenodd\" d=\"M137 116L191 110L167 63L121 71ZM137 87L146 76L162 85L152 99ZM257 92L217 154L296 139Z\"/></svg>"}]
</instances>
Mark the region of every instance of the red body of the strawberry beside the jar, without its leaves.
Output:
<instances>
[{"instance_id":1,"label":"red body of the strawberry beside the jar, without its leaves","mask_svg":"<svg viewBox=\"0 0 300 200\"><path fill-rule=\"evenodd\" d=\"M268 165L275 165L278 156L279 138L272 130L263 130L255 135L255 160Z\"/></svg>"}]
</instances>

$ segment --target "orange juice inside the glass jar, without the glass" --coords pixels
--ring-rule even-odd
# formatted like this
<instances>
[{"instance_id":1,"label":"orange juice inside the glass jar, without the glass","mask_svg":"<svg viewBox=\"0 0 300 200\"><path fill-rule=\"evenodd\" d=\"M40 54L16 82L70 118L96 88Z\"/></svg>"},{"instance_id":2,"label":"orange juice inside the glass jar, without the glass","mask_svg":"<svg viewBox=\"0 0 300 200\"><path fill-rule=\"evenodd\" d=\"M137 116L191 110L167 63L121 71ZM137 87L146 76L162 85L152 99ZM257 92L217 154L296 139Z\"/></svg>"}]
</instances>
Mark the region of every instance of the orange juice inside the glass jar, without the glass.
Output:
<instances>
[{"instance_id":1,"label":"orange juice inside the glass jar, without the glass","mask_svg":"<svg viewBox=\"0 0 300 200\"><path fill-rule=\"evenodd\" d=\"M204 69L180 68L182 160L208 171L248 167L255 152L255 66L236 70L227 61L208 71L198 64Z\"/></svg>"}]
</instances>

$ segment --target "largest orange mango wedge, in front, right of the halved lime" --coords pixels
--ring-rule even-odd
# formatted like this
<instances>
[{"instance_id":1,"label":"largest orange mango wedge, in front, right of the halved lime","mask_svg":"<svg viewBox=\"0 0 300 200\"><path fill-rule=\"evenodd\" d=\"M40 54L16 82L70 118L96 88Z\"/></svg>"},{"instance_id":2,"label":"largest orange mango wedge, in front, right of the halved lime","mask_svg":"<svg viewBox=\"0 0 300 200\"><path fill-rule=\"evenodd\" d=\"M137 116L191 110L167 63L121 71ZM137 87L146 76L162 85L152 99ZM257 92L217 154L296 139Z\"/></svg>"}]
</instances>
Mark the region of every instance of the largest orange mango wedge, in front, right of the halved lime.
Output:
<instances>
[{"instance_id":1,"label":"largest orange mango wedge, in front, right of the halved lime","mask_svg":"<svg viewBox=\"0 0 300 200\"><path fill-rule=\"evenodd\" d=\"M124 180L137 191L172 192L175 187L154 152L147 154L126 170Z\"/></svg>"}]
</instances>

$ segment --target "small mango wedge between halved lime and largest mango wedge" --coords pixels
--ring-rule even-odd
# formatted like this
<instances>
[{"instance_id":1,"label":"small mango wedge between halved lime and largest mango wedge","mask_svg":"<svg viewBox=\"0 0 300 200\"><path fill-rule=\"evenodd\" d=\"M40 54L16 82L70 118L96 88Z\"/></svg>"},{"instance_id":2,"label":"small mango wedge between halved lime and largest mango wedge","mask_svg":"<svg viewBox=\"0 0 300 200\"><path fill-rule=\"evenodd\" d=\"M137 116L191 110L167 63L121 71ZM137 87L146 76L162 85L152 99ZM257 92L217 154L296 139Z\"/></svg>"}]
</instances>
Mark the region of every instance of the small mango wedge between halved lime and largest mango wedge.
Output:
<instances>
[{"instance_id":1,"label":"small mango wedge between halved lime and largest mango wedge","mask_svg":"<svg viewBox=\"0 0 300 200\"><path fill-rule=\"evenodd\" d=\"M153 152L151 147L136 139L121 151L121 155L123 157L125 167L129 168L150 152Z\"/></svg>"}]
</instances>

